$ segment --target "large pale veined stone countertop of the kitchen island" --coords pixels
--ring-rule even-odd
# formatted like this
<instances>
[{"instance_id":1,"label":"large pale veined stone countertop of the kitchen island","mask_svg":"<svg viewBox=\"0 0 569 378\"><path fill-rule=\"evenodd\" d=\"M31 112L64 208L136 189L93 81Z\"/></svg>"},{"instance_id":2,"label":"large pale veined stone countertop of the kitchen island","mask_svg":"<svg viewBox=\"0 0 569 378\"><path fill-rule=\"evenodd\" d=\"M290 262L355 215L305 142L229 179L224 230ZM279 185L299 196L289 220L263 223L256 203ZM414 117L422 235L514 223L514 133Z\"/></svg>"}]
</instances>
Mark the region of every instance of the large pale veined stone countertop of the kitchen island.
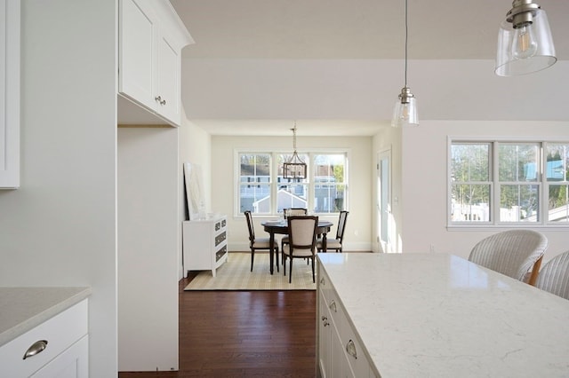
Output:
<instances>
[{"instance_id":1,"label":"large pale veined stone countertop of the kitchen island","mask_svg":"<svg viewBox=\"0 0 569 378\"><path fill-rule=\"evenodd\" d=\"M569 301L446 254L318 254L382 378L568 377Z\"/></svg>"}]
</instances>

